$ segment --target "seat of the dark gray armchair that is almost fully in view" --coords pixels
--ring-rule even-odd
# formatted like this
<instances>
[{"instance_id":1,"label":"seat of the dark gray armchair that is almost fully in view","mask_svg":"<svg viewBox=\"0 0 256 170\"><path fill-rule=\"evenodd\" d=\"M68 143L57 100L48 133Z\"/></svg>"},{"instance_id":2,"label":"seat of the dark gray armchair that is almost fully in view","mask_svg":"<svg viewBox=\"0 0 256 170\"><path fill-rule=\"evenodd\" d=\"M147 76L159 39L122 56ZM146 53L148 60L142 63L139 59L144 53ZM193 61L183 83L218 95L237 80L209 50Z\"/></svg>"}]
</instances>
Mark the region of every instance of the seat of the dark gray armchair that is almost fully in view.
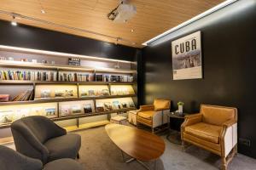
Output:
<instances>
[{"instance_id":1,"label":"seat of the dark gray armchair that is almost fully in view","mask_svg":"<svg viewBox=\"0 0 256 170\"><path fill-rule=\"evenodd\" d=\"M44 143L49 150L49 160L54 161L61 158L75 159L81 147L81 136L69 133L54 139L49 139Z\"/></svg>"}]
</instances>

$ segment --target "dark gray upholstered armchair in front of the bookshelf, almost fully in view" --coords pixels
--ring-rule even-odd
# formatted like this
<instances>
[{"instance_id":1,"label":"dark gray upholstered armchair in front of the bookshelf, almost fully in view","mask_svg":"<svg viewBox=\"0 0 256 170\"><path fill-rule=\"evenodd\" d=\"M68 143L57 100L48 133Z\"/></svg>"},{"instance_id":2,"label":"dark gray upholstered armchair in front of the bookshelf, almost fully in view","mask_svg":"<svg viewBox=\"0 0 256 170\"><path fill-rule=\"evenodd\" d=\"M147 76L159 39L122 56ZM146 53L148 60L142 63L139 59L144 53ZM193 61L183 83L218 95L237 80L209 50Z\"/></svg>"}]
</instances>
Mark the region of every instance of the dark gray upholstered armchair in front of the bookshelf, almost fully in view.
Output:
<instances>
[{"instance_id":1,"label":"dark gray upholstered armchair in front of the bookshelf, almost fully in view","mask_svg":"<svg viewBox=\"0 0 256 170\"><path fill-rule=\"evenodd\" d=\"M47 117L27 116L11 125L16 150L44 164L61 158L79 156L81 137L68 133Z\"/></svg>"}]
</instances>

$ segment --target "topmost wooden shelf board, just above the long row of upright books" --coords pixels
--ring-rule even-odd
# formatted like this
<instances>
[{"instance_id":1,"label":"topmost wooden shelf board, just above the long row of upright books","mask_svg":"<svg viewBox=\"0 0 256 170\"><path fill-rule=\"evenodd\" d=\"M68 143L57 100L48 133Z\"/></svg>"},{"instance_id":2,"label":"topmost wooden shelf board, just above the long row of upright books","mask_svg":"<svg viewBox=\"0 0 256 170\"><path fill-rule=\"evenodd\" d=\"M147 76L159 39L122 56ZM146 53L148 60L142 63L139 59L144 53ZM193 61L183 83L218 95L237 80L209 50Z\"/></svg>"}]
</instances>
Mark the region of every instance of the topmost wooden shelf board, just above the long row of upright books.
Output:
<instances>
[{"instance_id":1,"label":"topmost wooden shelf board, just above the long row of upright books","mask_svg":"<svg viewBox=\"0 0 256 170\"><path fill-rule=\"evenodd\" d=\"M87 71L87 72L109 72L109 73L126 73L126 74L136 74L135 70L122 70L122 69L112 69L112 68L94 68L88 66L77 66L77 65L51 65L44 63L32 63L24 61L12 61L12 60L0 60L0 66L2 67L14 67L14 68L31 68L44 70L55 70L55 71Z\"/></svg>"}]
</instances>

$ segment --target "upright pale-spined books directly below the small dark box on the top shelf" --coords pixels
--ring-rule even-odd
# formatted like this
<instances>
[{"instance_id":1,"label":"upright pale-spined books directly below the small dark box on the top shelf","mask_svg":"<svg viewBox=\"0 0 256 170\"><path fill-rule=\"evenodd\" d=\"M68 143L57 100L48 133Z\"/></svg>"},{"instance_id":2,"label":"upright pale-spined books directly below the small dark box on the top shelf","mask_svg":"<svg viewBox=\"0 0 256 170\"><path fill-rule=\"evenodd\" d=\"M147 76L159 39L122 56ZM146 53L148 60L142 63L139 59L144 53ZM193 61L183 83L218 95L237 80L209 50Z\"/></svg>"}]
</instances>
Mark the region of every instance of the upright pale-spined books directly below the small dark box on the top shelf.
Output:
<instances>
[{"instance_id":1,"label":"upright pale-spined books directly below the small dark box on the top shelf","mask_svg":"<svg viewBox=\"0 0 256 170\"><path fill-rule=\"evenodd\" d=\"M91 82L91 74L83 72L59 72L61 82Z\"/></svg>"}]
</instances>

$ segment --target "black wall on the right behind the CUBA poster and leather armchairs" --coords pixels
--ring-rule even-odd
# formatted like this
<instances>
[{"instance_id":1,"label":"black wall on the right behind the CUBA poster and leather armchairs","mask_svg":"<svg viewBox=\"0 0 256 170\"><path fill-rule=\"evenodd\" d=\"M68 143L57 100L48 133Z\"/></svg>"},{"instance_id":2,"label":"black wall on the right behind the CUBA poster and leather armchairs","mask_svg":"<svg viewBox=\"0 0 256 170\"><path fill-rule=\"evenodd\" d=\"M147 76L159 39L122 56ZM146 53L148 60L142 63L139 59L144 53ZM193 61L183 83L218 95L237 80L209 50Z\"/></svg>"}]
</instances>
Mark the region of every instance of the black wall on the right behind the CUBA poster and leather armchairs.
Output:
<instances>
[{"instance_id":1,"label":"black wall on the right behind the CUBA poster and leather armchairs","mask_svg":"<svg viewBox=\"0 0 256 170\"><path fill-rule=\"evenodd\" d=\"M203 79L172 79L172 40L201 31ZM166 41L165 41L166 40ZM201 104L238 108L239 152L256 157L256 1L241 0L143 48L143 104L154 98L185 103L184 111L198 112Z\"/></svg>"}]
</instances>

